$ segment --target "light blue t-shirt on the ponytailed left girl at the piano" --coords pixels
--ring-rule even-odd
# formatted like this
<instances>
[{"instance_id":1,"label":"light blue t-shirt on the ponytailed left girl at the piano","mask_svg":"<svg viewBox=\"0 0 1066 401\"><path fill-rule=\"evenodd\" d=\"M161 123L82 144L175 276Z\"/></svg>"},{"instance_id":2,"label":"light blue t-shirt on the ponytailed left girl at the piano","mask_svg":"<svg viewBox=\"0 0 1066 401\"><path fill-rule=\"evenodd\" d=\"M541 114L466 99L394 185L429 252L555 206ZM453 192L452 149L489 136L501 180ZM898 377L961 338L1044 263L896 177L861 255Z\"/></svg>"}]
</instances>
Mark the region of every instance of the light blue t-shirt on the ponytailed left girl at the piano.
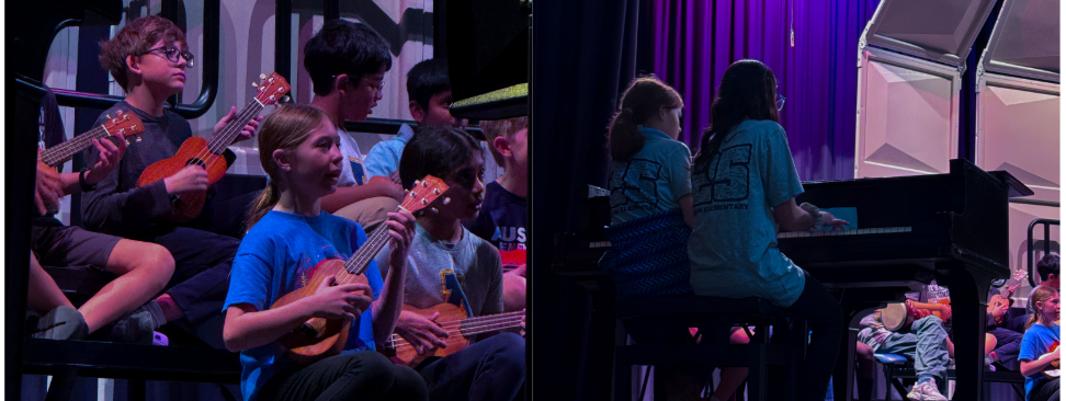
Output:
<instances>
[{"instance_id":1,"label":"light blue t-shirt on the ponytailed left girl at the piano","mask_svg":"<svg viewBox=\"0 0 1066 401\"><path fill-rule=\"evenodd\" d=\"M681 207L692 193L689 147L658 129L643 127L644 148L626 161L611 162L611 225Z\"/></svg>"}]
</instances>

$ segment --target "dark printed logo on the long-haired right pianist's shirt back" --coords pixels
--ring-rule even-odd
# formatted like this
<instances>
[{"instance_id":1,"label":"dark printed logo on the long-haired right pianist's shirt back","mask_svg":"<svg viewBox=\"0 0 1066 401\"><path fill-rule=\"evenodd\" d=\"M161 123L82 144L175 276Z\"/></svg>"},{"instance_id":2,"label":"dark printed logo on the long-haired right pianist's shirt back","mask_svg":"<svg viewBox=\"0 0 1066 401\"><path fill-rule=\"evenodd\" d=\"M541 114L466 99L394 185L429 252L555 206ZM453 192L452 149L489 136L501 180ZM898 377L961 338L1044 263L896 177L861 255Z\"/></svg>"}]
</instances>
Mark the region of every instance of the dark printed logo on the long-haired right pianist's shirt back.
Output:
<instances>
[{"instance_id":1,"label":"dark printed logo on the long-haired right pianist's shirt back","mask_svg":"<svg viewBox=\"0 0 1066 401\"><path fill-rule=\"evenodd\" d=\"M698 211L746 210L750 192L751 144L718 151L703 171L692 176L692 202ZM717 204L729 202L729 204Z\"/></svg>"}]
</instances>

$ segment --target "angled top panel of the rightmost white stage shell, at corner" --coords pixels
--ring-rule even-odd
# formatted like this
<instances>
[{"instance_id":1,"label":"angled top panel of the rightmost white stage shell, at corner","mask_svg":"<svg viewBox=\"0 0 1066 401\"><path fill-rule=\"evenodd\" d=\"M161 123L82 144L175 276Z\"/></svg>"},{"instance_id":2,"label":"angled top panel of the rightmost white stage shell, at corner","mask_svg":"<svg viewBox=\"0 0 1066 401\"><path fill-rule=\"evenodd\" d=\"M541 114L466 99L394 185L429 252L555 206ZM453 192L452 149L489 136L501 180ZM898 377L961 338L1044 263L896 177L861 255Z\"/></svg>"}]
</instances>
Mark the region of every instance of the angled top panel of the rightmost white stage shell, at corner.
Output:
<instances>
[{"instance_id":1,"label":"angled top panel of the rightmost white stage shell, at corner","mask_svg":"<svg viewBox=\"0 0 1066 401\"><path fill-rule=\"evenodd\" d=\"M980 57L985 71L1058 82L1061 0L1007 0Z\"/></svg>"}]
</instances>

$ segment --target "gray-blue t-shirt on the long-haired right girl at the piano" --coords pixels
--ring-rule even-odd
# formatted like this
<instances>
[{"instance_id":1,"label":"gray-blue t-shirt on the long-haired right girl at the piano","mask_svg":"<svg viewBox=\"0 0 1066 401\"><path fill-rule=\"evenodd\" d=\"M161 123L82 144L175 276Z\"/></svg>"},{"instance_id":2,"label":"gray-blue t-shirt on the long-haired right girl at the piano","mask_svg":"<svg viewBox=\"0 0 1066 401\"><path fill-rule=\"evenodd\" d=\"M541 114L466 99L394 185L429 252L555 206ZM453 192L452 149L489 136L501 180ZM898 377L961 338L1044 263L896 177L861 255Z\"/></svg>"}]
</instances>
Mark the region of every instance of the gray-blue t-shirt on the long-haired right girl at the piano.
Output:
<instances>
[{"instance_id":1,"label":"gray-blue t-shirt on the long-haired right girl at the piano","mask_svg":"<svg viewBox=\"0 0 1066 401\"><path fill-rule=\"evenodd\" d=\"M692 171L692 290L789 307L803 291L803 270L778 250L773 206L800 195L803 186L784 128L748 119L718 149Z\"/></svg>"}]
</instances>

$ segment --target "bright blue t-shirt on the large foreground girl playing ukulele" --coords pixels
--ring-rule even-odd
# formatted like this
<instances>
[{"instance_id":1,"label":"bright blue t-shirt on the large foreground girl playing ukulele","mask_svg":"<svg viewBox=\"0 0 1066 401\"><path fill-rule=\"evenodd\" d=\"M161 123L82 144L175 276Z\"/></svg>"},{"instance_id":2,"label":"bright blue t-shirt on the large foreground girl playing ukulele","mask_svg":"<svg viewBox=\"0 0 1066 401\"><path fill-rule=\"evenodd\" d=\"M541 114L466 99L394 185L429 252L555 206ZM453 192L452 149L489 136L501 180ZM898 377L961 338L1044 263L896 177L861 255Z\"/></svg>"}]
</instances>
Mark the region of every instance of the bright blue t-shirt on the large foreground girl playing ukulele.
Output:
<instances>
[{"instance_id":1,"label":"bright blue t-shirt on the large foreground girl playing ukulele","mask_svg":"<svg viewBox=\"0 0 1066 401\"><path fill-rule=\"evenodd\" d=\"M319 262L347 260L365 241L363 228L345 218L325 211L305 217L271 210L240 241L223 311L237 303L269 309L282 296L306 285ZM377 264L371 261L364 275L377 299L383 286ZM371 308L355 318L345 352L374 351L373 319ZM271 343L242 351L240 364L240 391L245 400L253 401L271 377L294 362L285 356L285 348Z\"/></svg>"}]
</instances>

